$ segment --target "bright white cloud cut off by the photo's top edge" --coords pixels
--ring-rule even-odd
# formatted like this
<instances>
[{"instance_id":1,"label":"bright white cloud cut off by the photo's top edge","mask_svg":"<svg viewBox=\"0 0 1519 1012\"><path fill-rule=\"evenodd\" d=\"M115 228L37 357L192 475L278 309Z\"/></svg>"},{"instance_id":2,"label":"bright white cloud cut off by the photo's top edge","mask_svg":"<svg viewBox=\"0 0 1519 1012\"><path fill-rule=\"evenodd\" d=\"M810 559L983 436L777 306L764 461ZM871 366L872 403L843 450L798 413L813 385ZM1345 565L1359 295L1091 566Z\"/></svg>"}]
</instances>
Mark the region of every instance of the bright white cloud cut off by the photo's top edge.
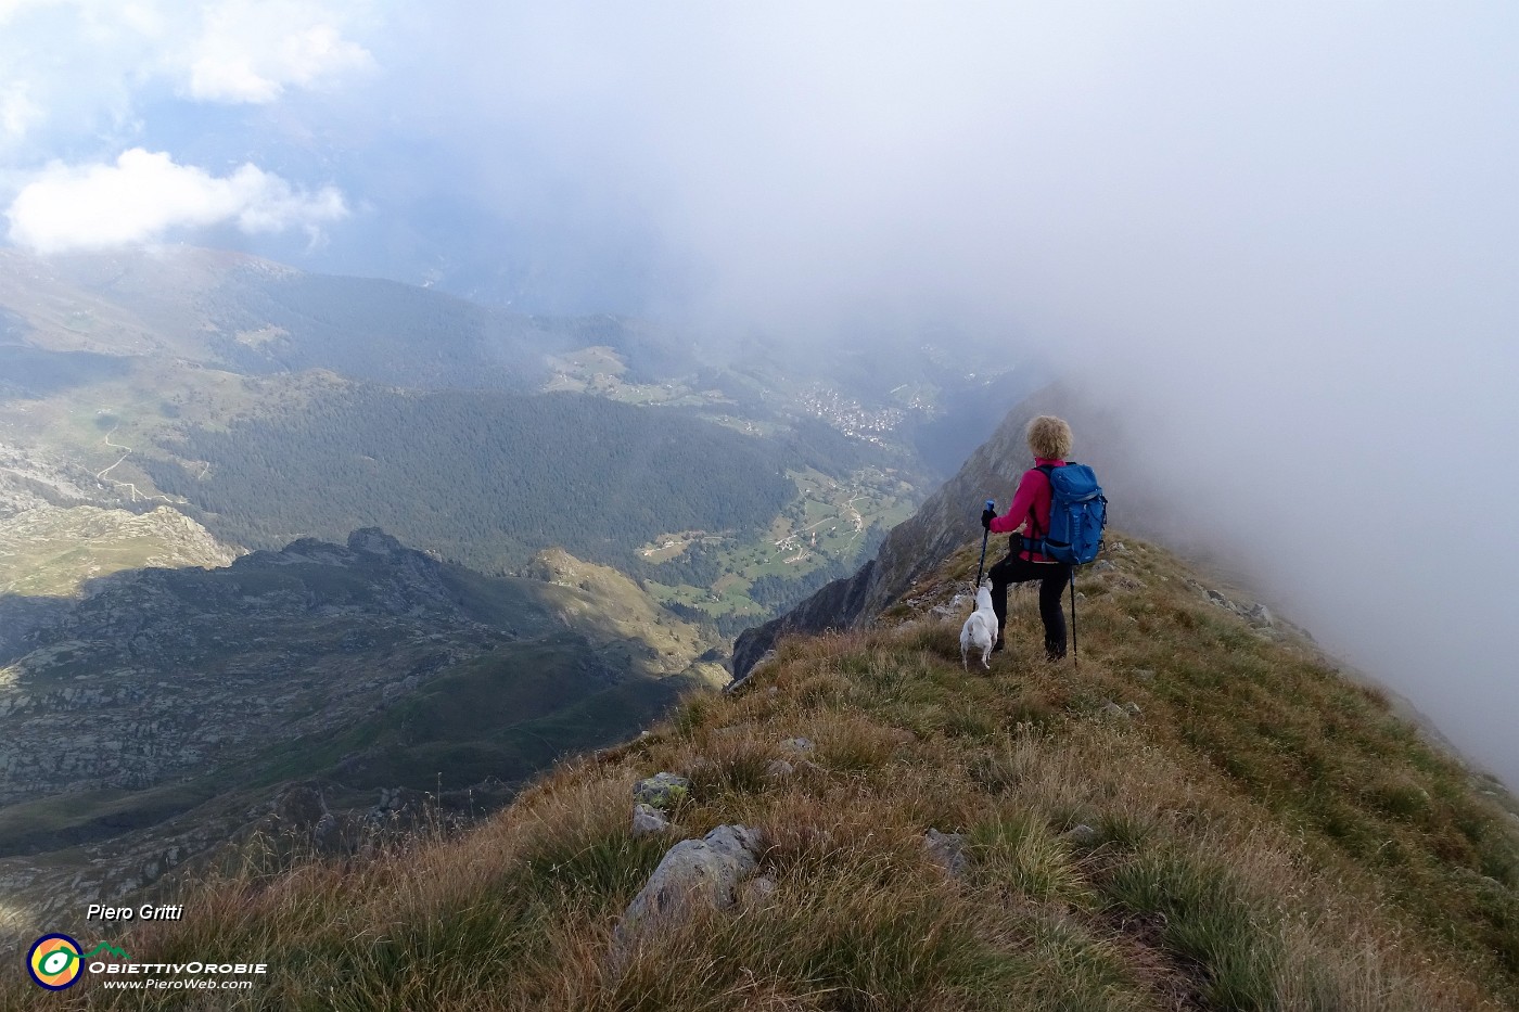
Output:
<instances>
[{"instance_id":1,"label":"bright white cloud cut off by the photo's top edge","mask_svg":"<svg viewBox=\"0 0 1519 1012\"><path fill-rule=\"evenodd\" d=\"M322 8L231 0L207 14L185 64L190 97L264 103L290 85L310 88L366 70L374 58L345 40Z\"/></svg>"}]
</instances>

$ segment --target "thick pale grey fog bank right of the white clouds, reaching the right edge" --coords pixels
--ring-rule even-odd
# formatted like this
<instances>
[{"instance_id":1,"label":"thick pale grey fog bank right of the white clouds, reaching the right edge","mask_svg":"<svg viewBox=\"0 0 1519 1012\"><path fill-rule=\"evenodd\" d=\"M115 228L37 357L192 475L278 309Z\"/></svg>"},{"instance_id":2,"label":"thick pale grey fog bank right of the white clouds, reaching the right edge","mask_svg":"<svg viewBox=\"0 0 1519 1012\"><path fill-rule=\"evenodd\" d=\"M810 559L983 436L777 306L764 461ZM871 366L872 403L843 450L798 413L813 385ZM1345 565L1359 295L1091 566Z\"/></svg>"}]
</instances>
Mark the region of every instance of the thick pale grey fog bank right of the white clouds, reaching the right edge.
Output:
<instances>
[{"instance_id":1,"label":"thick pale grey fog bank right of the white clouds, reaching the right edge","mask_svg":"<svg viewBox=\"0 0 1519 1012\"><path fill-rule=\"evenodd\" d=\"M1519 14L943 6L500 15L454 115L714 336L1051 356L1174 520L1519 784Z\"/></svg>"}]
</instances>

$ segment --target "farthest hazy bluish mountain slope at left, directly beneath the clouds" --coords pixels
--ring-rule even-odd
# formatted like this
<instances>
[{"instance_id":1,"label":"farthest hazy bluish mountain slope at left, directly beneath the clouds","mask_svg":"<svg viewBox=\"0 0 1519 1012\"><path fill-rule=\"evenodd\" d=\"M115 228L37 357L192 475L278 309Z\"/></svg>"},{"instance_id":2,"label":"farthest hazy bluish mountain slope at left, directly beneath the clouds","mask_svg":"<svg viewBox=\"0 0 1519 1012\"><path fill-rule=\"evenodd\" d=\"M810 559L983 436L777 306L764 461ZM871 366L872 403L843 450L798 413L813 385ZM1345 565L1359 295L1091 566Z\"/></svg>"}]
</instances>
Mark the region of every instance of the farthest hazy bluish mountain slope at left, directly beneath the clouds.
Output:
<instances>
[{"instance_id":1,"label":"farthest hazy bluish mountain slope at left, directly beneath the clouds","mask_svg":"<svg viewBox=\"0 0 1519 1012\"><path fill-rule=\"evenodd\" d=\"M190 246L53 258L0 251L0 360L30 345L18 362L44 369L50 386L164 356L251 375L322 368L413 387L529 389L547 377L550 351L592 343L574 322ZM598 336L617 333L600 324Z\"/></svg>"}]
</instances>

